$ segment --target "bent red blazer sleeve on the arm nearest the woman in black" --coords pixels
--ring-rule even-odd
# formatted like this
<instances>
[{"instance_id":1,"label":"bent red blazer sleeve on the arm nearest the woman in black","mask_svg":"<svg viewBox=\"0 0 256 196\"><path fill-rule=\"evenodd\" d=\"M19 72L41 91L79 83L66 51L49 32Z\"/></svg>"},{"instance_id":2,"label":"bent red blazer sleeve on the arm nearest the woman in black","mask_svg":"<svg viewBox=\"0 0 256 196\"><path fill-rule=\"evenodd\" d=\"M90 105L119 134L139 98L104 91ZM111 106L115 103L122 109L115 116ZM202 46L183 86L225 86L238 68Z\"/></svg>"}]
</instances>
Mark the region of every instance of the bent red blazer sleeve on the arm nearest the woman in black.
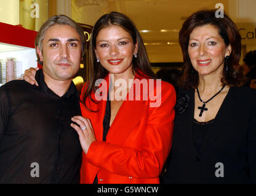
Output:
<instances>
[{"instance_id":1,"label":"bent red blazer sleeve on the arm nearest the woman in black","mask_svg":"<svg viewBox=\"0 0 256 196\"><path fill-rule=\"evenodd\" d=\"M148 107L145 113L148 116L141 148L94 141L86 155L87 161L117 175L157 178L172 144L176 102L174 87L169 83L162 82L161 91L157 93L161 93L161 105Z\"/></svg>"}]
</instances>

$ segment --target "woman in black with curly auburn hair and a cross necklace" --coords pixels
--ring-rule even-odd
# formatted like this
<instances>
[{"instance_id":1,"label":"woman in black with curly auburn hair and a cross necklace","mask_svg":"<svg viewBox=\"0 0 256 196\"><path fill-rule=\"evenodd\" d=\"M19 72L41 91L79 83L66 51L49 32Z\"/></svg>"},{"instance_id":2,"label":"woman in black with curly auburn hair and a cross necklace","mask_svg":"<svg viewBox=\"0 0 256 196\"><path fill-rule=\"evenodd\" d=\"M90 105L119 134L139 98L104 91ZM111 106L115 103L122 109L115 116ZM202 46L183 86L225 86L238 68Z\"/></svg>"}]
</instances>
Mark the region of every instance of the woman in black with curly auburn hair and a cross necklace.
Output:
<instances>
[{"instance_id":1,"label":"woman in black with curly auburn hair and a cross necklace","mask_svg":"<svg viewBox=\"0 0 256 196\"><path fill-rule=\"evenodd\" d=\"M184 67L163 183L255 183L256 91L243 84L241 36L215 10L179 34Z\"/></svg>"}]
</instances>

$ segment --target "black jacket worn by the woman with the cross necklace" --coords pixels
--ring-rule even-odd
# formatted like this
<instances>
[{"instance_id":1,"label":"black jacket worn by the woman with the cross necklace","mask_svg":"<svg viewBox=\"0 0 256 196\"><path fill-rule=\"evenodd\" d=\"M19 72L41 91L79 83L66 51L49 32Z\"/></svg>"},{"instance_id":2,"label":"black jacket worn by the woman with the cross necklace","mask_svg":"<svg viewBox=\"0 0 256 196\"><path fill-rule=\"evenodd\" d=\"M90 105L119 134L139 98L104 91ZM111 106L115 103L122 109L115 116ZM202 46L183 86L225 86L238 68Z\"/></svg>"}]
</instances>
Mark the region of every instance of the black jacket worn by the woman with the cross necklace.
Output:
<instances>
[{"instance_id":1,"label":"black jacket worn by the woman with the cross necklace","mask_svg":"<svg viewBox=\"0 0 256 196\"><path fill-rule=\"evenodd\" d=\"M198 153L193 140L194 89L179 89L164 183L256 183L256 90L230 87ZM178 103L178 100L177 100Z\"/></svg>"}]
</instances>

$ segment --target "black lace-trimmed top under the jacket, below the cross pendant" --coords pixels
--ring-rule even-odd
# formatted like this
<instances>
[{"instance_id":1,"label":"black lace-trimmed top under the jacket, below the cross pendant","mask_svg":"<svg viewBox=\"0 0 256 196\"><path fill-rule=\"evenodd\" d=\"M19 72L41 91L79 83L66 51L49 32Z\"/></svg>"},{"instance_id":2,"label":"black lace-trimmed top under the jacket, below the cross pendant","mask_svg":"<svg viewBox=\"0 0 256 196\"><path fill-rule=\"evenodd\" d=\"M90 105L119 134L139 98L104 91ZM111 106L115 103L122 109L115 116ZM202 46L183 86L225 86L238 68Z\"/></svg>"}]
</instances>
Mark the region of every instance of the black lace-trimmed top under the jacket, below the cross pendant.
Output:
<instances>
[{"instance_id":1,"label":"black lace-trimmed top under the jacket, below the cross pendant","mask_svg":"<svg viewBox=\"0 0 256 196\"><path fill-rule=\"evenodd\" d=\"M196 119L193 121L194 145L196 146L199 154L201 153L202 142L204 141L207 131L209 130L209 127L212 123L214 123L214 119L207 122L198 122Z\"/></svg>"}]
</instances>

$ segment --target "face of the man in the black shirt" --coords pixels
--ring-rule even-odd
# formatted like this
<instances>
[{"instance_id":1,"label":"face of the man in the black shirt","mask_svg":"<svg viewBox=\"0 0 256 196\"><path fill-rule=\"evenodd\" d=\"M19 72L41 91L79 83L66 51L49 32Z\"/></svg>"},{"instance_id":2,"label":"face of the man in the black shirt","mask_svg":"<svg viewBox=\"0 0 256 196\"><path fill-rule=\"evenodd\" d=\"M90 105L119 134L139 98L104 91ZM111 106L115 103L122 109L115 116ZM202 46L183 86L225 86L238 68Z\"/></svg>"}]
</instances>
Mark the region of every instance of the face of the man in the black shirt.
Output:
<instances>
[{"instance_id":1,"label":"face of the man in the black shirt","mask_svg":"<svg viewBox=\"0 0 256 196\"><path fill-rule=\"evenodd\" d=\"M42 40L42 53L37 48L40 61L44 62L45 77L54 80L71 80L81 62L81 39L70 25L54 25L47 29Z\"/></svg>"}]
</instances>

